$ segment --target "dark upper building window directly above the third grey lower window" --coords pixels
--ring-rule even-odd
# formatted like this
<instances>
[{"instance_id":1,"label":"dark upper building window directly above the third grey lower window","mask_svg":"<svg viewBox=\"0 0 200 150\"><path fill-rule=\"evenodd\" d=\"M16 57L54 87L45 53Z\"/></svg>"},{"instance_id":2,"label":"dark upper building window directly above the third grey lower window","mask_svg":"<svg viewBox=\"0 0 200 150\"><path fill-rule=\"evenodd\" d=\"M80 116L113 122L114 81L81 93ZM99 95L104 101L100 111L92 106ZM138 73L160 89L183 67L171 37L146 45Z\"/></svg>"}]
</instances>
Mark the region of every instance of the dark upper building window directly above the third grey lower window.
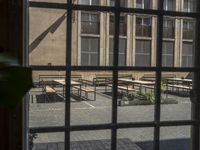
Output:
<instances>
[{"instance_id":1,"label":"dark upper building window directly above the third grey lower window","mask_svg":"<svg viewBox=\"0 0 200 150\"><path fill-rule=\"evenodd\" d=\"M151 37L151 18L136 18L136 36Z\"/></svg>"}]
</instances>

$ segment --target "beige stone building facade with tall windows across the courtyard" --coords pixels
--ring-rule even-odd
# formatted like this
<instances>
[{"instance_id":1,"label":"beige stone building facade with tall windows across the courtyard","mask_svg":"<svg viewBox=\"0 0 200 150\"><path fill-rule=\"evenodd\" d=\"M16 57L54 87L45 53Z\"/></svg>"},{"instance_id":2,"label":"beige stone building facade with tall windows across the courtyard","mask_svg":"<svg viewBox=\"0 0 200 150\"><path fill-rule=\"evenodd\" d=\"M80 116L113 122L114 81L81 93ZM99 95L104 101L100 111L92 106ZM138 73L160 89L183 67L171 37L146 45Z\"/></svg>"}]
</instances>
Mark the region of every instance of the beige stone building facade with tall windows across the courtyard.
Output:
<instances>
[{"instance_id":1,"label":"beige stone building facade with tall windows across the courtyard","mask_svg":"<svg viewBox=\"0 0 200 150\"><path fill-rule=\"evenodd\" d=\"M65 0L40 0L65 3ZM114 6L114 0L75 0L76 4ZM121 0L121 7L157 9L157 0ZM195 11L193 0L164 0L166 11ZM65 65L66 10L30 8L30 65ZM72 65L112 66L114 15L107 12L74 11ZM191 67L195 20L163 18L162 66ZM157 16L122 13L120 17L119 65L156 66Z\"/></svg>"}]
</instances>

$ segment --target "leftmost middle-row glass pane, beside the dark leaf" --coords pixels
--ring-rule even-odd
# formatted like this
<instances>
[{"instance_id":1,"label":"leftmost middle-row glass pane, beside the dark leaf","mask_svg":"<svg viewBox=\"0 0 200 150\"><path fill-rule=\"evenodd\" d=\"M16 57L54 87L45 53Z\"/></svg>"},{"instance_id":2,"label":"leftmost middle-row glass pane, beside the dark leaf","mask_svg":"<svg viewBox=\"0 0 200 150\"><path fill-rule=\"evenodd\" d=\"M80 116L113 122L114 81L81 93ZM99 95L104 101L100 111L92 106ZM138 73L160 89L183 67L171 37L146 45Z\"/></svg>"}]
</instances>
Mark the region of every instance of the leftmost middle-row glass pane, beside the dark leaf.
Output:
<instances>
[{"instance_id":1,"label":"leftmost middle-row glass pane, beside the dark leaf","mask_svg":"<svg viewBox=\"0 0 200 150\"><path fill-rule=\"evenodd\" d=\"M65 97L56 80L64 80L64 71L34 71L34 88L29 92L29 126L63 126Z\"/></svg>"}]
</instances>

